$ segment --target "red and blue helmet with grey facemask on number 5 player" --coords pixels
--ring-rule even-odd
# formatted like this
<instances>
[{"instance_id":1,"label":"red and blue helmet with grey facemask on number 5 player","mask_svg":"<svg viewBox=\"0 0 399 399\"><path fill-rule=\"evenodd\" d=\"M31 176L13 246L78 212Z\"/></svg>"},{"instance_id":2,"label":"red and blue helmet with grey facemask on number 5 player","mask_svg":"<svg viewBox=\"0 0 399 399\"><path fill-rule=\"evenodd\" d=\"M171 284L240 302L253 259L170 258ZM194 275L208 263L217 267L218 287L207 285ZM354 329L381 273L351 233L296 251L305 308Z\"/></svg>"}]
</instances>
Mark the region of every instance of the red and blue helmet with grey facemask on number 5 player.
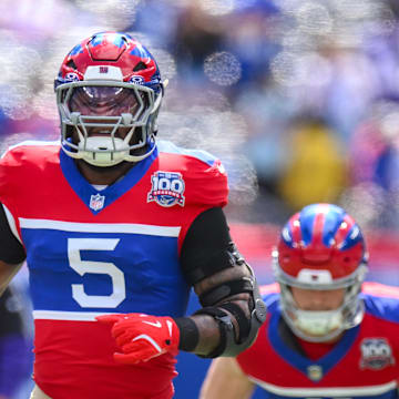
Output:
<instances>
[{"instance_id":1,"label":"red and blue helmet with grey facemask on number 5 player","mask_svg":"<svg viewBox=\"0 0 399 399\"><path fill-rule=\"evenodd\" d=\"M68 155L112 166L154 151L164 85L154 58L129 34L84 39L65 57L54 88Z\"/></svg>"}]
</instances>

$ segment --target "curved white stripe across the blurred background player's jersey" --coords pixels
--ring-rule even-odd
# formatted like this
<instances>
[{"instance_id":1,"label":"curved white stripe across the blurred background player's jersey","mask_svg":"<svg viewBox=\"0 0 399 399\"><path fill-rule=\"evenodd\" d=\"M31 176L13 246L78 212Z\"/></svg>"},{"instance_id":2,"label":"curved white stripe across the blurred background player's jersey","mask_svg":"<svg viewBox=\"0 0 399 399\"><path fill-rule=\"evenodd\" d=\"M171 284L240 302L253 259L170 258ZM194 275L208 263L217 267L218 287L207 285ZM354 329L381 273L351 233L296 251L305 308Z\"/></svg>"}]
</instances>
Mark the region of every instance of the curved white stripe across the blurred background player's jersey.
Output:
<instances>
[{"instance_id":1,"label":"curved white stripe across the blurred background player's jersey","mask_svg":"<svg viewBox=\"0 0 399 399\"><path fill-rule=\"evenodd\" d=\"M248 378L263 389L283 397L358 397L358 396L372 396L389 392L397 388L397 382L390 381L378 386L364 386L364 387L331 387L331 388L286 388L278 387L273 383L260 381L256 378L248 376Z\"/></svg>"}]
</instances>

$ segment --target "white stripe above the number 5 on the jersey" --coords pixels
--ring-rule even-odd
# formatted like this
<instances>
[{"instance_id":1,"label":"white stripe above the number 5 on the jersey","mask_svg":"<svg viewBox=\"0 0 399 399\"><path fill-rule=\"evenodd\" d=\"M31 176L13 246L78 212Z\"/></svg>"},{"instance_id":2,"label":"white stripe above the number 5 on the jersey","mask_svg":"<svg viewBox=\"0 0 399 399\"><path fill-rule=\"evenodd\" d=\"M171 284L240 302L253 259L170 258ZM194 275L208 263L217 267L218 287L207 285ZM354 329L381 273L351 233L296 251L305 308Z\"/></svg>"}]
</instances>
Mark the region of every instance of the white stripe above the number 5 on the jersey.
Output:
<instances>
[{"instance_id":1,"label":"white stripe above the number 5 on the jersey","mask_svg":"<svg viewBox=\"0 0 399 399\"><path fill-rule=\"evenodd\" d=\"M21 228L48 228L76 233L127 233L162 237L178 237L181 227L129 223L78 223L50 219L19 218Z\"/></svg>"}]
</instances>

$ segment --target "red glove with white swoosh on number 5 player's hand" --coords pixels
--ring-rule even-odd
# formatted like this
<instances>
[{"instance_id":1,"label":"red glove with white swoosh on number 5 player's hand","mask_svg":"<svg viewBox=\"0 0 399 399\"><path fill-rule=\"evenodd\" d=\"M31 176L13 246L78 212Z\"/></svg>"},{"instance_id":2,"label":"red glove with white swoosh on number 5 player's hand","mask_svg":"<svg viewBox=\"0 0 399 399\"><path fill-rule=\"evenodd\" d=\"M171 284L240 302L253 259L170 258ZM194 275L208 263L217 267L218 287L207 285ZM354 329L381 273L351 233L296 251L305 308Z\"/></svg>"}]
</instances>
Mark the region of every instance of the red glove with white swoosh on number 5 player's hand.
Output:
<instances>
[{"instance_id":1,"label":"red glove with white swoosh on number 5 player's hand","mask_svg":"<svg viewBox=\"0 0 399 399\"><path fill-rule=\"evenodd\" d=\"M113 325L112 336L122 349L122 354L114 354L117 362L134 365L165 352L177 355L180 330L172 317L115 314L96 319Z\"/></svg>"}]
</instances>

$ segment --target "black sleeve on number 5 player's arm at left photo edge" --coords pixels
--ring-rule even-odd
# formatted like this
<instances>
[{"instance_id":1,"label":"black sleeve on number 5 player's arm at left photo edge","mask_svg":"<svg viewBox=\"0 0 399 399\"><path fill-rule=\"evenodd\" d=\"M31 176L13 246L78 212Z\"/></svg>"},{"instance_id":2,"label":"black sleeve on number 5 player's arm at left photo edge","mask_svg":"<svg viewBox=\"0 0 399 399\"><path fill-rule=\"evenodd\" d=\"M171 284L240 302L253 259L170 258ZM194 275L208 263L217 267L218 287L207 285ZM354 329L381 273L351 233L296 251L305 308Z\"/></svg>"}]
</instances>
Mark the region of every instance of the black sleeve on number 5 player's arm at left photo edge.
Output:
<instances>
[{"instance_id":1,"label":"black sleeve on number 5 player's arm at left photo edge","mask_svg":"<svg viewBox=\"0 0 399 399\"><path fill-rule=\"evenodd\" d=\"M25 259L22 244L12 234L4 208L0 203L0 260L18 265Z\"/></svg>"}]
</instances>

